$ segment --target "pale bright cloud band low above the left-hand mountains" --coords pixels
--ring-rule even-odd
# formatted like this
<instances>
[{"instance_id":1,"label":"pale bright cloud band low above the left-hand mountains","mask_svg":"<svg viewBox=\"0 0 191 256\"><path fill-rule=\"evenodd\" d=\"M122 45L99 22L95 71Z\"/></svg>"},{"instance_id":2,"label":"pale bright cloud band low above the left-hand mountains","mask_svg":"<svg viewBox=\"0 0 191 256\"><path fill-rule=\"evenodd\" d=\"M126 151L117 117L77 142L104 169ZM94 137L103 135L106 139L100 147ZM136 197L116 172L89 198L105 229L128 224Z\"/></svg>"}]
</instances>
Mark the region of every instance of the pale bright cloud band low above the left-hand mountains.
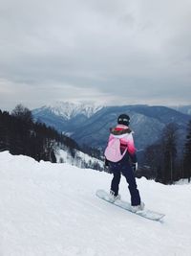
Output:
<instances>
[{"instance_id":1,"label":"pale bright cloud band low above the left-hand mountains","mask_svg":"<svg viewBox=\"0 0 191 256\"><path fill-rule=\"evenodd\" d=\"M109 100L110 96L108 96ZM9 101L8 101L9 99ZM105 105L105 95L96 87L77 87L72 84L48 81L39 85L0 80L0 103L2 110L12 110L22 104L29 108L53 105L56 101L81 102L90 101Z\"/></svg>"}]
</instances>

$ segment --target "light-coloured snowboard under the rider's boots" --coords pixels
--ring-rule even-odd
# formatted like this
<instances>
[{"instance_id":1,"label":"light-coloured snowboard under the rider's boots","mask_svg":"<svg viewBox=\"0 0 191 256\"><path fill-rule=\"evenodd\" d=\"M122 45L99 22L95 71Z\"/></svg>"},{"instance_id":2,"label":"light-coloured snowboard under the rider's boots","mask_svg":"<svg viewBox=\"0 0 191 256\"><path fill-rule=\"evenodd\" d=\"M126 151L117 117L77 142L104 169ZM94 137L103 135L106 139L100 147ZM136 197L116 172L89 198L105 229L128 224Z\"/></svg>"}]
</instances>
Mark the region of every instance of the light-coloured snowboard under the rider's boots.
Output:
<instances>
[{"instance_id":1,"label":"light-coloured snowboard under the rider's boots","mask_svg":"<svg viewBox=\"0 0 191 256\"><path fill-rule=\"evenodd\" d=\"M158 212L154 212L154 211L151 211L151 210L148 210L148 209L143 209L141 211L138 211L138 212L134 212L132 207L131 207L131 203L128 202L128 201L123 201L121 199L117 199L116 201L112 201L111 200L111 196L109 193L107 193L106 191L104 190L97 190L96 191L96 197L98 198L101 198L105 201L108 201L120 208L123 208L124 210L127 210L131 213L134 213L140 217L143 217L143 218L146 218L148 220L152 220L152 221L160 221L165 215L164 214L161 214L161 213L158 213Z\"/></svg>"}]
</instances>

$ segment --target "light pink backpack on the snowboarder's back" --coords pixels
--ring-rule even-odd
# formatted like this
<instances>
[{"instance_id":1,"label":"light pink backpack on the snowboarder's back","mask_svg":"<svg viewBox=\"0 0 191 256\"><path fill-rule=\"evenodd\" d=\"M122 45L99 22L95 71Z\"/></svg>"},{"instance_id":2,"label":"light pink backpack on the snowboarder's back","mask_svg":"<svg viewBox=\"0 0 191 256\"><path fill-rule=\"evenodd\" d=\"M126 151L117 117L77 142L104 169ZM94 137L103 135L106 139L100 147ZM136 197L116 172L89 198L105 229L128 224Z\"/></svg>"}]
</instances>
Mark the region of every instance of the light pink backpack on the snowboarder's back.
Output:
<instances>
[{"instance_id":1,"label":"light pink backpack on the snowboarder's back","mask_svg":"<svg viewBox=\"0 0 191 256\"><path fill-rule=\"evenodd\" d=\"M123 153L120 151L120 139L114 137L111 141L109 141L107 148L105 149L105 157L107 160L111 162L118 162L120 161L123 156L125 155L127 148Z\"/></svg>"}]
</instances>

